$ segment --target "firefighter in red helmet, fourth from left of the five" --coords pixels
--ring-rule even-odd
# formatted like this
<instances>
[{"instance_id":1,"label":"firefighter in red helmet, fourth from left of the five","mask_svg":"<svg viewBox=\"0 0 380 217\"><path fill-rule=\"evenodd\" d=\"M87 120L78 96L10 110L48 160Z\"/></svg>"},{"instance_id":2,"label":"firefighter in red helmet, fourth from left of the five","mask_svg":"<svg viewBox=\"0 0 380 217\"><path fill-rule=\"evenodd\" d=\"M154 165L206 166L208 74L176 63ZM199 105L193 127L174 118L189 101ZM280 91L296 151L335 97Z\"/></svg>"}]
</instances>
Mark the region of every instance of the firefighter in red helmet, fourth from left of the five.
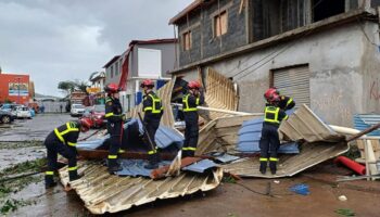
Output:
<instances>
[{"instance_id":1,"label":"firefighter in red helmet, fourth from left of the five","mask_svg":"<svg viewBox=\"0 0 380 217\"><path fill-rule=\"evenodd\" d=\"M203 92L200 91L199 81L190 81L189 92L182 98L182 111L185 117L185 141L182 146L182 156L194 156L198 145L199 126L197 106L204 103Z\"/></svg>"}]
</instances>

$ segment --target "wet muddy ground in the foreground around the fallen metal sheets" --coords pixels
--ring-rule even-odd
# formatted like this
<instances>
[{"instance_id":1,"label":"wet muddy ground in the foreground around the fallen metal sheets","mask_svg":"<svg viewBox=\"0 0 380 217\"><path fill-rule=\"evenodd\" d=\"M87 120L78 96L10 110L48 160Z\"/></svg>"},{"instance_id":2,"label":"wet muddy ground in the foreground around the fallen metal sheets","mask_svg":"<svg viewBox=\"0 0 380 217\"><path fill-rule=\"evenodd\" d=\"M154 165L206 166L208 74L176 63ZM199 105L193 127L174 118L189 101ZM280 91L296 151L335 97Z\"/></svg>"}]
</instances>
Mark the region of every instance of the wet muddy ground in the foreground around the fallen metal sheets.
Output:
<instances>
[{"instance_id":1,"label":"wet muddy ground in the foreground around the fallen metal sheets","mask_svg":"<svg viewBox=\"0 0 380 217\"><path fill-rule=\"evenodd\" d=\"M1 142L0 153L0 173L7 171L7 176L17 175L7 168L43 155L41 146L36 143L15 142ZM22 168L20 166L18 170ZM34 169L36 168L29 166L20 171ZM295 177L276 180L243 179L237 183L224 181L210 192L161 200L111 216L347 216L338 214L338 210L351 212L355 216L379 216L380 182L335 181L338 176L349 174L350 170L327 162ZM91 216L75 192L67 193L61 186L47 191L42 179L40 174L22 181L0 182L0 216ZM297 183L308 184L311 193L300 195L291 192L289 188ZM347 200L340 201L340 195L345 195ZM7 203L8 201L10 202Z\"/></svg>"}]
</instances>

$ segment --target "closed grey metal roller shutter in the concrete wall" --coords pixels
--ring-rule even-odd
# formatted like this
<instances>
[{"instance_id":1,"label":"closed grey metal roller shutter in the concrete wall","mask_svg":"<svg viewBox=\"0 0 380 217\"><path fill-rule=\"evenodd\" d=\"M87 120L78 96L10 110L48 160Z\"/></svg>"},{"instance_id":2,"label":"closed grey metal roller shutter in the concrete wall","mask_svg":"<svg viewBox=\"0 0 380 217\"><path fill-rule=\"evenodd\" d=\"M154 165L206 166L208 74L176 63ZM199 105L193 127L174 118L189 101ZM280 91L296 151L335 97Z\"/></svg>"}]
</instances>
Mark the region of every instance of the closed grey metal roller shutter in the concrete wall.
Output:
<instances>
[{"instance_id":1,"label":"closed grey metal roller shutter in the concrete wall","mask_svg":"<svg viewBox=\"0 0 380 217\"><path fill-rule=\"evenodd\" d=\"M295 107L311 106L311 80L308 66L296 66L274 71L274 86L281 94L292 97Z\"/></svg>"}]
</instances>

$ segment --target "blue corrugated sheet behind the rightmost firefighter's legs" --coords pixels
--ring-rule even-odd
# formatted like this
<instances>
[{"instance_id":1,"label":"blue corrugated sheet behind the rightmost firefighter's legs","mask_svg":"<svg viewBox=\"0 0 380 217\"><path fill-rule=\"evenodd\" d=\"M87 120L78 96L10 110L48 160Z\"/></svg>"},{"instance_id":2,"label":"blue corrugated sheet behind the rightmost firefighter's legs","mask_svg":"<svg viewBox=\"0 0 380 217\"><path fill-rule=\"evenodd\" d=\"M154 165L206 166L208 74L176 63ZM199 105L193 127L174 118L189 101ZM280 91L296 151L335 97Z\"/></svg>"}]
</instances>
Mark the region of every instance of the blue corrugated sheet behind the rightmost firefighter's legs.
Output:
<instances>
[{"instance_id":1,"label":"blue corrugated sheet behind the rightmost firefighter's legs","mask_svg":"<svg viewBox=\"0 0 380 217\"><path fill-rule=\"evenodd\" d=\"M255 118L243 123L239 130L239 142L237 151L245 153L259 152L259 139L262 137L263 118ZM297 154L300 153L299 145L295 142L289 142L280 145L278 153Z\"/></svg>"}]
</instances>

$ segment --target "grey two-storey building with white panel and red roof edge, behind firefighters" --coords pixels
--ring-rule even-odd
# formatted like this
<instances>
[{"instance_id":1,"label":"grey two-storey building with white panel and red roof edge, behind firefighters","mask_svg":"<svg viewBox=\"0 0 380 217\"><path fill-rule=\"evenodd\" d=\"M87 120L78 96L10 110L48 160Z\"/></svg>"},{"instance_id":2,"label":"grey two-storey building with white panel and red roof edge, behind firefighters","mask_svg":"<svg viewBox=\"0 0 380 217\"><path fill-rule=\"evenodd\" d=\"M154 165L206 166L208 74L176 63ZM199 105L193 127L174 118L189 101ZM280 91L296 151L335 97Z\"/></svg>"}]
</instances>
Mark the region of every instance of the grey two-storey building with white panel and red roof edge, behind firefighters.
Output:
<instances>
[{"instance_id":1,"label":"grey two-storey building with white panel and red roof edge, behind firefighters","mask_svg":"<svg viewBox=\"0 0 380 217\"><path fill-rule=\"evenodd\" d=\"M104 65L105 84L116 82L125 87L121 92L125 111L141 102L142 80L152 79L155 88L160 88L170 79L168 73L176 67L176 39L134 40L128 50Z\"/></svg>"}]
</instances>

